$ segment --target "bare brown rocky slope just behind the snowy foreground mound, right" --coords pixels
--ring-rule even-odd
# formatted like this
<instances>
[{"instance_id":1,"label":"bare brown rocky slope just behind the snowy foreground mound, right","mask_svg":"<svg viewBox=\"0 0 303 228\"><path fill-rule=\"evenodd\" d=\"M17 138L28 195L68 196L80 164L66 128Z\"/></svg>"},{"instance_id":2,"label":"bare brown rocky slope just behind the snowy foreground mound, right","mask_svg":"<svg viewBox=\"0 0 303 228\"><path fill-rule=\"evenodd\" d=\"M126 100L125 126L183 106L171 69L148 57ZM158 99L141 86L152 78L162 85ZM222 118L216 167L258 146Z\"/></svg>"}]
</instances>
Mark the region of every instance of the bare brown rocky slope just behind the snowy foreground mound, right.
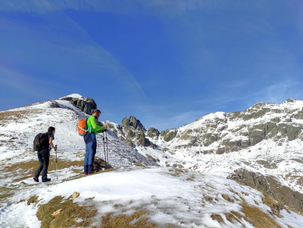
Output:
<instances>
[{"instance_id":1,"label":"bare brown rocky slope just behind the snowy foreground mound, right","mask_svg":"<svg viewBox=\"0 0 303 228\"><path fill-rule=\"evenodd\" d=\"M228 176L241 185L248 185L258 191L271 195L275 200L282 202L294 211L303 213L303 194L295 192L285 185L281 185L271 176L248 171L244 168L236 169Z\"/></svg>"}]
</instances>

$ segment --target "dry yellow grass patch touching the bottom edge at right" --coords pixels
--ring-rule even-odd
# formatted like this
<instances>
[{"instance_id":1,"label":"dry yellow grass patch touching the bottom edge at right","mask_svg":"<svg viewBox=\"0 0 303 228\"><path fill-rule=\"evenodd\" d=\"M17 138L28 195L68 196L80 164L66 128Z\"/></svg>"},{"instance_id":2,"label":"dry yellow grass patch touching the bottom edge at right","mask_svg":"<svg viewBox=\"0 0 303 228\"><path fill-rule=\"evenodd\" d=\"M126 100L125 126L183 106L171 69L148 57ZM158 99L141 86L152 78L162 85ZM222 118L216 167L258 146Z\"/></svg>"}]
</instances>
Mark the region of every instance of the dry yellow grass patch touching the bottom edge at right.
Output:
<instances>
[{"instance_id":1,"label":"dry yellow grass patch touching the bottom edge at right","mask_svg":"<svg viewBox=\"0 0 303 228\"><path fill-rule=\"evenodd\" d=\"M255 228L282 228L271 216L256 206L249 205L247 202L240 204L243 207L242 212L245 214L249 223Z\"/></svg>"}]
</instances>

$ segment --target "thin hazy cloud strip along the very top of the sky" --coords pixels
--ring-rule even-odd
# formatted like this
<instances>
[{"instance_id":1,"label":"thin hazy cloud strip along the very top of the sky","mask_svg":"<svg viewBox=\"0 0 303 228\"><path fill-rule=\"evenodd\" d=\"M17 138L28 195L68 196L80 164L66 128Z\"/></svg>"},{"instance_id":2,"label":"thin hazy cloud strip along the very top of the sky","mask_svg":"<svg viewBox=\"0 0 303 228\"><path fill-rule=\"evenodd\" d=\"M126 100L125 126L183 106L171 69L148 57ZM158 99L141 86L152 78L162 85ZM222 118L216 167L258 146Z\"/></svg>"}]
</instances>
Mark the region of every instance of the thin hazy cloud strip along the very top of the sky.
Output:
<instances>
[{"instance_id":1,"label":"thin hazy cloud strip along the very top of the sky","mask_svg":"<svg viewBox=\"0 0 303 228\"><path fill-rule=\"evenodd\" d=\"M241 4L239 4L241 2ZM133 0L133 1L119 1L119 0L14 0L0 2L0 10L8 12L38 12L48 13L54 11L61 11L72 9L77 11L87 12L113 12L113 13L131 13L131 12L145 12L145 13L182 13L185 11L204 9L204 8L218 8L218 9L239 9L258 7L258 3L247 4L243 1L222 2L218 0ZM155 10L155 11L153 11Z\"/></svg>"}]
</instances>

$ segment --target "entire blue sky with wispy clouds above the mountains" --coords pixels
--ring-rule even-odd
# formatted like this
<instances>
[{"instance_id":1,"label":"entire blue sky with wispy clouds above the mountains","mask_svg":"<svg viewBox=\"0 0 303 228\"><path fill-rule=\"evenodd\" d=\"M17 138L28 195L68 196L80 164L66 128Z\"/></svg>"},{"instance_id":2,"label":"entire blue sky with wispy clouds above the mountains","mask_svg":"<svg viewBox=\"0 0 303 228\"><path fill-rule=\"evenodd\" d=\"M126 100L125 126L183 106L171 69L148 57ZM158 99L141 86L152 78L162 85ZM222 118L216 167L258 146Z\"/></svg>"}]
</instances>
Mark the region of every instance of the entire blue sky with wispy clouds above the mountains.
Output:
<instances>
[{"instance_id":1,"label":"entire blue sky with wispy clouds above the mountains","mask_svg":"<svg viewBox=\"0 0 303 228\"><path fill-rule=\"evenodd\" d=\"M302 1L2 1L0 110L72 93L160 131L303 100Z\"/></svg>"}]
</instances>

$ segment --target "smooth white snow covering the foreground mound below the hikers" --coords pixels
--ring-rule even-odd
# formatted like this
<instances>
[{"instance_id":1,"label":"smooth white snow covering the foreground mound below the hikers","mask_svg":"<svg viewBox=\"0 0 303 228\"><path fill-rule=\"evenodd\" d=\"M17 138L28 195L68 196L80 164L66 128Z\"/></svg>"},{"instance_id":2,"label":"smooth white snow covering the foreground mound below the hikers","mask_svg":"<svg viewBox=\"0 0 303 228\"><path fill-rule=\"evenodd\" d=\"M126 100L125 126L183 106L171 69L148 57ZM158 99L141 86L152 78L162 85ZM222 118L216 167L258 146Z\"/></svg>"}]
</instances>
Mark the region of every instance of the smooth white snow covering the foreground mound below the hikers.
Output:
<instances>
[{"instance_id":1,"label":"smooth white snow covering the foreground mound below the hikers","mask_svg":"<svg viewBox=\"0 0 303 228\"><path fill-rule=\"evenodd\" d=\"M2 207L0 226L38 228L41 225L36 217L39 205L55 196L67 199L74 191L80 193L74 202L94 205L97 209L92 226L100 225L107 213L120 215L123 211L129 216L137 210L144 210L148 214L143 217L148 217L158 227L254 227L243 218L228 221L225 214L236 211L245 216L239 205L243 200L264 211L271 211L262 203L260 192L231 180L180 172L174 168L132 166L58 184L37 183L34 188L16 193L13 199L17 202L37 195L40 201L36 205L18 202ZM230 197L229 201L222 197L224 194ZM89 198L92 202L88 201ZM212 219L212 215L220 216L223 222ZM302 227L302 216L285 210L281 215L283 218L274 216L281 227Z\"/></svg>"}]
</instances>

